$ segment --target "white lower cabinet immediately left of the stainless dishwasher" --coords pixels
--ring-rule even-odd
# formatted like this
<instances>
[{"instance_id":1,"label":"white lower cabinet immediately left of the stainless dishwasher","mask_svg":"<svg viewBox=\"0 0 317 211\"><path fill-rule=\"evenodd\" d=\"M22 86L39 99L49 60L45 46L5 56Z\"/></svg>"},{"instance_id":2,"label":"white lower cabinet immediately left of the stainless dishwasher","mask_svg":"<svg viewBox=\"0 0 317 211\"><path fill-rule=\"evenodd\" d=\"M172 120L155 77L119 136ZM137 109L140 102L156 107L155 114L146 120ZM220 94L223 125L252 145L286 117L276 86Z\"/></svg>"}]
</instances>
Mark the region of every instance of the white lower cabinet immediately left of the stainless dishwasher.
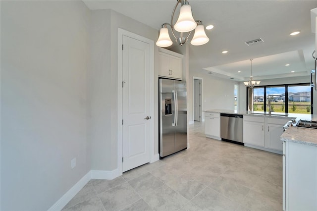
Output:
<instances>
[{"instance_id":1,"label":"white lower cabinet immediately left of the stainless dishwasher","mask_svg":"<svg viewBox=\"0 0 317 211\"><path fill-rule=\"evenodd\" d=\"M220 139L219 113L205 112L205 134L207 137Z\"/></svg>"}]
</instances>

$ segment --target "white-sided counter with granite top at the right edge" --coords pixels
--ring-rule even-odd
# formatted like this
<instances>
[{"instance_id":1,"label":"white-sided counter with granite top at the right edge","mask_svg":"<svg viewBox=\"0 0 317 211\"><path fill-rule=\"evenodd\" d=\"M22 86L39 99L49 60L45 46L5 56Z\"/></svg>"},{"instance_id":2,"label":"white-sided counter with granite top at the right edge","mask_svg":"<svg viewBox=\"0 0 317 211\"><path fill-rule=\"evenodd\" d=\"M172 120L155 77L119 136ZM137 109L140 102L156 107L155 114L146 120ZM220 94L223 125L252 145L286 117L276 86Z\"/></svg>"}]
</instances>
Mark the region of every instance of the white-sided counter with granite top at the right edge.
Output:
<instances>
[{"instance_id":1,"label":"white-sided counter with granite top at the right edge","mask_svg":"<svg viewBox=\"0 0 317 211\"><path fill-rule=\"evenodd\" d=\"M313 121L317 120L312 115ZM317 210L317 129L288 127L283 141L283 210Z\"/></svg>"}]
</instances>

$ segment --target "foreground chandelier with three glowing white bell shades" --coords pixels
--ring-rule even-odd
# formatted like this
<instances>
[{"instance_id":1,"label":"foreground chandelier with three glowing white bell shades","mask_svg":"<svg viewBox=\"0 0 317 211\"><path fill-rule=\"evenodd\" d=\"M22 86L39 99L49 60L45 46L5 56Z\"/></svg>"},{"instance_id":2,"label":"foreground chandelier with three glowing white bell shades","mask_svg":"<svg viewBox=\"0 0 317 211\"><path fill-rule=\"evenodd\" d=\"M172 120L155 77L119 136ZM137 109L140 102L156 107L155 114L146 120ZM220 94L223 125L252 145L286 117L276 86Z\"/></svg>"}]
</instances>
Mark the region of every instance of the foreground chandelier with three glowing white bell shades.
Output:
<instances>
[{"instance_id":1,"label":"foreground chandelier with three glowing white bell shades","mask_svg":"<svg viewBox=\"0 0 317 211\"><path fill-rule=\"evenodd\" d=\"M176 23L173 25L173 18L177 5L181 3L179 17ZM201 46L208 43L209 38L207 37L204 29L203 22L200 20L194 20L191 6L187 0L177 0L177 3L173 9L172 16L170 18L170 23L163 23L161 29L159 30L159 39L157 41L157 46L159 47L169 47L173 44L171 41L167 25L170 26L172 34L179 45L184 45L191 32L195 29L195 33L192 41L190 42L193 46ZM179 37L175 36L175 32L180 32ZM184 33L188 33L185 35Z\"/></svg>"}]
</instances>

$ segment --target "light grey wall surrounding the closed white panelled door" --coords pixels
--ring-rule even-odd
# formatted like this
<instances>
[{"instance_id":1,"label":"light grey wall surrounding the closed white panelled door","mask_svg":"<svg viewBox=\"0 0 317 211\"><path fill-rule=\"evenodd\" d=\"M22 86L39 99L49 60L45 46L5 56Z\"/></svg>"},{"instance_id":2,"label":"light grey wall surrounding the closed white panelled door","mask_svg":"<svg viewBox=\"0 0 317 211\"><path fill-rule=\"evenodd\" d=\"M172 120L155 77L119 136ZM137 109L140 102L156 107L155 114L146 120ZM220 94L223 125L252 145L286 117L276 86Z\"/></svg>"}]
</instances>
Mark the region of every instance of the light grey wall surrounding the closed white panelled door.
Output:
<instances>
[{"instance_id":1,"label":"light grey wall surrounding the closed white panelled door","mask_svg":"<svg viewBox=\"0 0 317 211\"><path fill-rule=\"evenodd\" d=\"M118 28L156 41L158 30L113 10L92 11L91 142L92 169L111 171L117 166ZM155 47L155 116L158 119L158 73ZM154 154L158 154L158 121L155 121ZM120 150L120 149L119 149ZM121 149L122 150L122 149Z\"/></svg>"}]
</instances>

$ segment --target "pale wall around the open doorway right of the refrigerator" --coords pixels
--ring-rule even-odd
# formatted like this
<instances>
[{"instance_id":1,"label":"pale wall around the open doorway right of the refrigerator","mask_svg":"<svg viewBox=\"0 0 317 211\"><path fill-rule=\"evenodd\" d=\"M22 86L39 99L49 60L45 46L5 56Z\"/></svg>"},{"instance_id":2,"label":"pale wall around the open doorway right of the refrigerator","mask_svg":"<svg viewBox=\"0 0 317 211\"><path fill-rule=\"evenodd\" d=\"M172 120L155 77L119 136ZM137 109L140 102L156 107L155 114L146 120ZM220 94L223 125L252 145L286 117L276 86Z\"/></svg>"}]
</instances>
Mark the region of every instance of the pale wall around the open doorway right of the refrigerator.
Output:
<instances>
[{"instance_id":1,"label":"pale wall around the open doorway right of the refrigerator","mask_svg":"<svg viewBox=\"0 0 317 211\"><path fill-rule=\"evenodd\" d=\"M190 56L190 55L189 55ZM187 96L189 99L188 111L189 121L193 121L193 77L203 78L203 110L210 109L234 109L234 84L236 82L218 78L212 74L207 74L204 70L195 70L190 66L189 89ZM203 114L204 119L204 114Z\"/></svg>"}]
</instances>

